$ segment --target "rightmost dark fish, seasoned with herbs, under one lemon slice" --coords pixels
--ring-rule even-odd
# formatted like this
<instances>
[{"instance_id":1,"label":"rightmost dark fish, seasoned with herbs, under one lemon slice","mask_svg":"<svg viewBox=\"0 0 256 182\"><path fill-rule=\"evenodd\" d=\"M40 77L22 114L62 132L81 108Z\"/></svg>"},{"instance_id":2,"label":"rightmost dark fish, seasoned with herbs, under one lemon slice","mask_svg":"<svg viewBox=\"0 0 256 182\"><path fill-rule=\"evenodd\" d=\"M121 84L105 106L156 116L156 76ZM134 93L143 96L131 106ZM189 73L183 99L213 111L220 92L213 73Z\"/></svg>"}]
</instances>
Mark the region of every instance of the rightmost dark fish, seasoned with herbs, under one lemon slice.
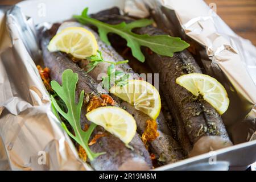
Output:
<instances>
[{"instance_id":1,"label":"rightmost dark fish, seasoned with herbs, under one lemon slice","mask_svg":"<svg viewBox=\"0 0 256 182\"><path fill-rule=\"evenodd\" d=\"M105 10L100 13L100 16L98 14L92 15L92 18L109 24L118 24L123 21L129 23L134 20L118 15L116 8L115 10L109 11L115 14L109 14L108 10ZM137 34L165 34L162 30L152 26L134 28L133 31ZM113 44L115 42L118 43L118 46L123 46L122 44L124 43L126 44L119 36L113 34L109 36L110 42ZM217 111L204 100L194 101L192 93L176 84L177 77L191 72L191 70L187 70L186 68L188 65L191 67L193 73L202 73L191 54L187 50L184 50L174 53L173 57L160 56L152 51L148 51L145 47L142 47L142 52L146 57L146 63L149 67L154 73L159 73L159 86L164 94L171 114L175 118L177 138L184 151L189 156L195 156L211 150L231 146L232 142L228 137L222 118ZM205 140L208 142L205 142ZM202 142L204 142L203 147L194 147L201 146L200 143Z\"/></svg>"}]
</instances>

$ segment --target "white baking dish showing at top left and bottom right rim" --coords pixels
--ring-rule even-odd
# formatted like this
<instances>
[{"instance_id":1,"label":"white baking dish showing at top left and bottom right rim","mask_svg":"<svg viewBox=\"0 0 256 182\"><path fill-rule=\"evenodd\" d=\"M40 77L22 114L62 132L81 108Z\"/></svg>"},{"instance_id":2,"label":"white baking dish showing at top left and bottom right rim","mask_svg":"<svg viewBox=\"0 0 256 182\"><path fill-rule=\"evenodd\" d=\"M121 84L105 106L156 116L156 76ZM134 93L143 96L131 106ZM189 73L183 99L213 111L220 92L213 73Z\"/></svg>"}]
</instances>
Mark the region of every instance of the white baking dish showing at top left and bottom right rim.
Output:
<instances>
[{"instance_id":1,"label":"white baking dish showing at top left and bottom right rim","mask_svg":"<svg viewBox=\"0 0 256 182\"><path fill-rule=\"evenodd\" d=\"M28 0L18 3L22 13L31 17L34 24L43 22L61 22L73 14L80 14L84 7L89 7L89 14L117 6L123 9L124 0ZM256 161L256 140L236 144L207 154L188 158L173 164L156 168L155 170L227 170L246 169Z\"/></svg>"}]
</instances>

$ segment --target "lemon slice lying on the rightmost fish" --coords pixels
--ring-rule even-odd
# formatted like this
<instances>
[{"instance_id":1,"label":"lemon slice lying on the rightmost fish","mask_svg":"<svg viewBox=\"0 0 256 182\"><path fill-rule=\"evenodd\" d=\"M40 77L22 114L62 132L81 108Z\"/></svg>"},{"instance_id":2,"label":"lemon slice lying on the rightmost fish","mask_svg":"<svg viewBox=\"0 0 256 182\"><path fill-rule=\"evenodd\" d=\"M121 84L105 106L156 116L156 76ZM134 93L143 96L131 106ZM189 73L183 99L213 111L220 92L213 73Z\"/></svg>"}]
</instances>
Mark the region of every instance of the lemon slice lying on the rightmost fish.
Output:
<instances>
[{"instance_id":1,"label":"lemon slice lying on the rightmost fish","mask_svg":"<svg viewBox=\"0 0 256 182\"><path fill-rule=\"evenodd\" d=\"M176 83L183 86L194 96L201 94L219 114L225 113L229 107L229 98L224 86L215 78L200 73L191 73L180 76Z\"/></svg>"}]
</instances>

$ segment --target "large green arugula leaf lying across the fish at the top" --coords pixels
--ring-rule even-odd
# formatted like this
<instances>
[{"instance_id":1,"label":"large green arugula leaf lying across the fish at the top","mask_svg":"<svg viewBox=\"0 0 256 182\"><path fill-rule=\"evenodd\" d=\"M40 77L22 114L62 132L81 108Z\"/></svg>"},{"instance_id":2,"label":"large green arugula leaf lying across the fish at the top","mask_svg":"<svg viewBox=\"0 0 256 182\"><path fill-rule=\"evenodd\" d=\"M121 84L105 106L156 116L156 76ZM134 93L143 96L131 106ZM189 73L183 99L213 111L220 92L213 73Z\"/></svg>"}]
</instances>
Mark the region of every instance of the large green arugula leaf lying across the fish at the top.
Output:
<instances>
[{"instance_id":1,"label":"large green arugula leaf lying across the fish at the top","mask_svg":"<svg viewBox=\"0 0 256 182\"><path fill-rule=\"evenodd\" d=\"M133 56L136 57L139 61L144 62L145 57L141 51L141 46L145 46L150 48L155 53L158 53L162 56L173 56L174 52L182 51L183 49L189 47L189 44L180 38L174 38L169 35L155 35L150 36L147 34L138 35L132 32L133 28L145 27L153 23L152 20L149 19L140 19L135 20L131 23L119 23L119 24L108 24L101 22L97 19L90 18L88 16L88 8L82 11L81 15L74 15L82 24L93 24L98 27L98 32L100 34L100 38L103 42L110 45L108 39L108 33L112 32L126 39L127 46L131 48L131 52Z\"/></svg>"}]
</instances>

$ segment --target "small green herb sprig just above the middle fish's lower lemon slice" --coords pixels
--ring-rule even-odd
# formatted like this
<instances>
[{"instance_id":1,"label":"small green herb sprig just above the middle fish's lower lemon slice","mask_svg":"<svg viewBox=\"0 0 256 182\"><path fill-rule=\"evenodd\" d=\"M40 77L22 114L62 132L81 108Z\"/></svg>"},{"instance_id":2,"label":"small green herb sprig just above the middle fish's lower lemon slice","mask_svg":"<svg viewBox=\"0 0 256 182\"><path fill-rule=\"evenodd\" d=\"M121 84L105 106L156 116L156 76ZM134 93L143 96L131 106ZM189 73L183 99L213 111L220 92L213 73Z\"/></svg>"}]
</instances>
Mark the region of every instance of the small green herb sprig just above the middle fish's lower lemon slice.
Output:
<instances>
[{"instance_id":1,"label":"small green herb sprig just above the middle fish's lower lemon slice","mask_svg":"<svg viewBox=\"0 0 256 182\"><path fill-rule=\"evenodd\" d=\"M129 74L122 71L115 71L114 64L108 67L108 76L102 77L102 88L109 90L110 86L115 85L123 86L128 83Z\"/></svg>"}]
</instances>

